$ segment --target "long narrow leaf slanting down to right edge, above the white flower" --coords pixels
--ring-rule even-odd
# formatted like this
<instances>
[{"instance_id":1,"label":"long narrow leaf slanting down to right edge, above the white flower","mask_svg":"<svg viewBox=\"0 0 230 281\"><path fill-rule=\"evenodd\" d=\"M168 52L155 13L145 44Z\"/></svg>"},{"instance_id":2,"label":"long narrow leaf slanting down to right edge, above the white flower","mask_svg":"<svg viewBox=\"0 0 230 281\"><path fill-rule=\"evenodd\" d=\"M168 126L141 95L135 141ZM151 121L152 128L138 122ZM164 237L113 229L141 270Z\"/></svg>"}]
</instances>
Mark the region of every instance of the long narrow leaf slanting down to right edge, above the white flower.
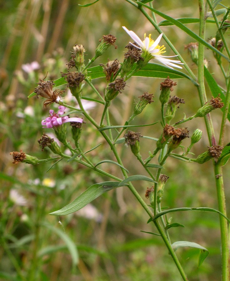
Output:
<instances>
[{"instance_id":1,"label":"long narrow leaf slanting down to right edge, above the white flower","mask_svg":"<svg viewBox=\"0 0 230 281\"><path fill-rule=\"evenodd\" d=\"M174 19L173 17L169 17L168 15L165 15L162 12L159 12L158 10L151 8L141 2L136 2L139 5L142 5L144 7L146 7L147 9L153 11L154 13L156 13L157 15L165 18L166 20L168 20L169 22L172 22L175 26L179 27L180 29L182 29L184 32L186 32L189 36L191 36L192 38L194 38L195 40L197 40L198 42L202 43L205 47L207 47L208 49L212 50L213 52L219 54L220 56L222 56L223 58L225 58L228 62L230 62L230 59L228 57L226 57L222 52L220 52L219 50L217 50L215 47L213 47L212 45L208 44L208 42L206 42L205 40L203 40L201 37L199 37L195 32L193 32L191 29L189 29L188 27L186 27L183 23L179 22L178 20Z\"/></svg>"}]
</instances>

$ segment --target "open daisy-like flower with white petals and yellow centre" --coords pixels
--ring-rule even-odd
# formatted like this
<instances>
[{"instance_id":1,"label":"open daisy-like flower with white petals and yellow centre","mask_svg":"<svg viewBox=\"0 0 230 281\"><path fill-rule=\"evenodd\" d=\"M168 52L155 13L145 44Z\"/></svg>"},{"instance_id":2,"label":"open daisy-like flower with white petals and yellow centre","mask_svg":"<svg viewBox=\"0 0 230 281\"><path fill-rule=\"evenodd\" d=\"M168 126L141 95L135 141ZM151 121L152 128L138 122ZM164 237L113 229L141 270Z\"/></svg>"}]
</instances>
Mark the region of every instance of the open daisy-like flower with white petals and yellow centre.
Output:
<instances>
[{"instance_id":1,"label":"open daisy-like flower with white petals and yellow centre","mask_svg":"<svg viewBox=\"0 0 230 281\"><path fill-rule=\"evenodd\" d=\"M181 61L169 59L169 57L177 57L177 56L162 56L162 54L165 53L164 51L165 47L164 45L160 46L159 42L163 33L161 33L155 41L151 38L151 34L149 34L149 37L146 37L146 34L144 34L144 40L142 41L132 30L128 30L125 26L123 26L123 29L140 46L138 47L130 42L130 44L132 44L134 47L143 51L143 56L144 53L147 53L152 56L150 59L155 58L156 60L158 60L159 62L163 63L165 66L171 69L173 69L173 67L182 68L181 66L176 64L184 64L184 63L182 63Z\"/></svg>"}]
</instances>

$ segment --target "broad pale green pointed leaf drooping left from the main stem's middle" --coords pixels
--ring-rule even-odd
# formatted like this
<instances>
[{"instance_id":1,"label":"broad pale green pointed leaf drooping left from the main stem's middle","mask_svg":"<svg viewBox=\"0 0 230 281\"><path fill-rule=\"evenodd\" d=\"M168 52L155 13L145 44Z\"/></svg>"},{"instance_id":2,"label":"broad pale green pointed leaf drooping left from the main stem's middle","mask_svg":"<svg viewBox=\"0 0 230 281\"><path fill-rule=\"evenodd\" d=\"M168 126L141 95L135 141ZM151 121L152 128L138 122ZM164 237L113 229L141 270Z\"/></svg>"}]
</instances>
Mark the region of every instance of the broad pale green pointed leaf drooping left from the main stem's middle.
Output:
<instances>
[{"instance_id":1,"label":"broad pale green pointed leaf drooping left from the main stem's middle","mask_svg":"<svg viewBox=\"0 0 230 281\"><path fill-rule=\"evenodd\" d=\"M50 213L51 215L66 215L71 214L85 207L88 203L102 195L103 193L117 188L120 185L118 181L105 181L98 184L91 185L83 193L81 193L75 200L70 204L66 205L60 210Z\"/></svg>"}]
</instances>

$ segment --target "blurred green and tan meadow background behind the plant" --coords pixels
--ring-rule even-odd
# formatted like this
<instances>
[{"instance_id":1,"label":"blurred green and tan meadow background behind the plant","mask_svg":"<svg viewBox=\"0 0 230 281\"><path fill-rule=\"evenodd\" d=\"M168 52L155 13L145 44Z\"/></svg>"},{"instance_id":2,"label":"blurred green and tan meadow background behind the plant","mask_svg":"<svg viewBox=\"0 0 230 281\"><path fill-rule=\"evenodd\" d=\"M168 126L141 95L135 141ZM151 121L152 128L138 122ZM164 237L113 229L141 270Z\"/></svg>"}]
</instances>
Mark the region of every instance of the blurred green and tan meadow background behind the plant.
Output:
<instances>
[{"instance_id":1,"label":"blurred green and tan meadow background behind the plant","mask_svg":"<svg viewBox=\"0 0 230 281\"><path fill-rule=\"evenodd\" d=\"M27 99L27 96L34 91L39 79L46 77L46 80L55 80L61 76L61 71L67 71L66 63L74 44L84 45L87 62L94 56L103 35L115 35L118 48L111 46L94 62L93 66L97 66L116 58L122 62L125 46L130 40L122 29L123 25L140 36L145 32L151 33L154 38L158 36L144 16L124 0L100 0L89 7L78 5L88 2L11 0L0 3L0 280L181 280L161 237L140 232L156 232L156 229L153 224L147 224L149 217L130 190L125 187L111 190L78 212L61 217L51 216L49 213L70 203L89 186L108 178L66 160L55 165L53 162L12 164L10 152L20 149L39 159L48 157L49 151L41 151L37 140L43 132L51 136L51 130L42 128L41 121L55 105L44 109L41 98L34 96ZM229 4L228 0L222 3ZM199 17L198 1L156 1L154 7L174 18ZM160 22L163 19L157 16L157 20ZM198 24L189 24L188 27L198 32ZM184 45L194 42L194 39L175 26L162 27L162 30L196 73L197 66L191 61L188 51L184 50ZM206 39L215 34L216 28L208 23ZM229 34L228 31L228 44ZM169 50L167 55L174 54ZM205 57L209 71L224 86L219 79L219 69L212 51L207 49ZM31 71L31 63L35 61L38 67ZM160 78L132 77L127 83L128 87L111 106L112 124L124 124L132 114L138 97L145 91L154 93L154 103L147 106L132 125L151 124L159 120L162 81ZM177 86L172 94L185 100L177 111L175 121L178 121L185 112L186 116L193 115L200 105L196 88L190 81L175 81ZM94 81L99 91L105 85L104 78ZM65 86L61 89L64 90ZM87 95L93 95L93 91L89 89ZM207 95L208 98L212 96L210 91ZM65 100L69 98L69 102L76 106L67 92L64 96ZM88 106L91 115L99 122L100 106L90 103ZM221 113L214 112L212 117L218 136ZM204 121L201 118L189 121L186 126L191 133L196 128L203 131L201 141L192 150L197 156L207 150ZM152 137L159 137L162 131L160 123L138 129L142 135ZM230 139L229 123L227 129L226 139ZM68 133L71 134L70 131ZM109 159L110 147L105 145L104 139L91 124L84 124L80 139L82 150L90 150L100 143L102 145L90 154L94 163ZM188 139L183 145L189 143ZM149 139L141 139L140 145L143 158L148 157L148 151L155 148L155 143ZM129 147L120 144L118 151L129 175L145 174ZM102 166L105 171L120 176L117 166L110 163ZM164 173L169 176L162 199L165 207L218 208L211 161L199 165L170 158ZM224 166L224 173L226 202L229 202L229 165ZM144 196L147 187L150 187L149 182L135 182L135 188L149 204ZM210 253L198 268L198 249L177 251L188 279L220 280L218 215L175 212L172 217L172 222L185 226L169 230L172 242L196 242Z\"/></svg>"}]
</instances>

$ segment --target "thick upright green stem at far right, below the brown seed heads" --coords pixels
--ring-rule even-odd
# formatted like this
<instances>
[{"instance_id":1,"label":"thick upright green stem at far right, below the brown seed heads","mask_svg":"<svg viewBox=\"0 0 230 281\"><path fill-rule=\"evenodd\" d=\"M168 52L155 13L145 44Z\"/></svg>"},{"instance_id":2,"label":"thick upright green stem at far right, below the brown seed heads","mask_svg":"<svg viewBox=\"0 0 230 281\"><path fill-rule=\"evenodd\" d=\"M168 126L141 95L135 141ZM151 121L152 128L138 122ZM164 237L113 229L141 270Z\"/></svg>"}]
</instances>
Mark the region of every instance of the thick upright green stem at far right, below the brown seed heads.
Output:
<instances>
[{"instance_id":1,"label":"thick upright green stem at far right, below the brown seed heads","mask_svg":"<svg viewBox=\"0 0 230 281\"><path fill-rule=\"evenodd\" d=\"M218 199L218 210L225 216L226 204L224 195L224 184L222 176L222 167L220 163L214 165L215 180ZM229 265L229 241L228 241L228 224L227 220L220 215L220 233L221 233L221 252L222 252L222 281L230 280L230 265Z\"/></svg>"}]
</instances>

